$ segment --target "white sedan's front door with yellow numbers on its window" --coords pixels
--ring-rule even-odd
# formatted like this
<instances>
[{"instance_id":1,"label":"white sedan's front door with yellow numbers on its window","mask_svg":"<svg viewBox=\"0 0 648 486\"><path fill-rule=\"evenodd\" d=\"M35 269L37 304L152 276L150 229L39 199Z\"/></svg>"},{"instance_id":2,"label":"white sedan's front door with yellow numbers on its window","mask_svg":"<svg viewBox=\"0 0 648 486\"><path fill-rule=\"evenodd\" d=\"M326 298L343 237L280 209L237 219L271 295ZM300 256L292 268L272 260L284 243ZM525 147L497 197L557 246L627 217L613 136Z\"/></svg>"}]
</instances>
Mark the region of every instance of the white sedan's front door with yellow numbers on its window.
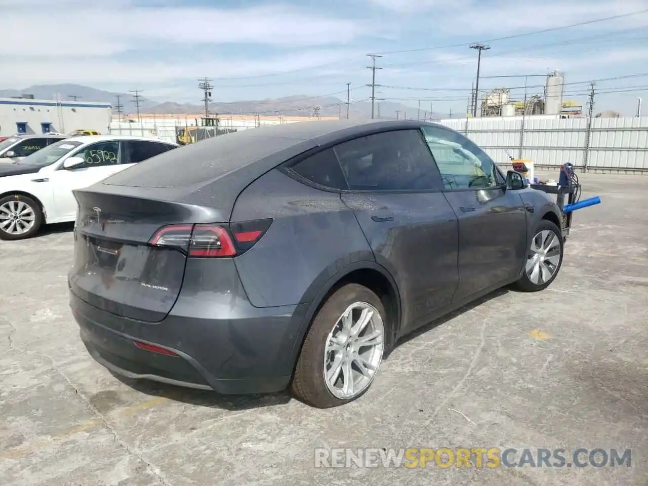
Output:
<instances>
[{"instance_id":1,"label":"white sedan's front door with yellow numbers on its window","mask_svg":"<svg viewBox=\"0 0 648 486\"><path fill-rule=\"evenodd\" d=\"M72 193L115 174L120 167L121 142L104 141L87 145L71 157L81 157L82 165L72 168L59 167L54 170L50 180L54 192L54 205L60 220L74 220L76 199Z\"/></svg>"}]
</instances>

